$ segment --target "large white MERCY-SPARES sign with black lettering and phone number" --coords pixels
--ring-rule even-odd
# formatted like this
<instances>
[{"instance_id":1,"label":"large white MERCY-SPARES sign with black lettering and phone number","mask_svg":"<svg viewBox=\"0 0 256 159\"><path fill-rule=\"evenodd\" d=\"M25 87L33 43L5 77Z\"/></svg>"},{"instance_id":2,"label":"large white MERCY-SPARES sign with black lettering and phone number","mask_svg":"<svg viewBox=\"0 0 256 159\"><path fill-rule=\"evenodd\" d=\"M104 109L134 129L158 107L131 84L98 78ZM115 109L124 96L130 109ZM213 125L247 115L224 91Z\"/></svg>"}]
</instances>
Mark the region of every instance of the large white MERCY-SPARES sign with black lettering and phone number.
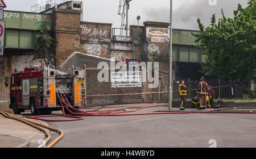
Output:
<instances>
[{"instance_id":1,"label":"large white MERCY-SPARES sign with black lettering and phone number","mask_svg":"<svg viewBox=\"0 0 256 159\"><path fill-rule=\"evenodd\" d=\"M111 73L112 87L141 87L141 71Z\"/></svg>"}]
</instances>

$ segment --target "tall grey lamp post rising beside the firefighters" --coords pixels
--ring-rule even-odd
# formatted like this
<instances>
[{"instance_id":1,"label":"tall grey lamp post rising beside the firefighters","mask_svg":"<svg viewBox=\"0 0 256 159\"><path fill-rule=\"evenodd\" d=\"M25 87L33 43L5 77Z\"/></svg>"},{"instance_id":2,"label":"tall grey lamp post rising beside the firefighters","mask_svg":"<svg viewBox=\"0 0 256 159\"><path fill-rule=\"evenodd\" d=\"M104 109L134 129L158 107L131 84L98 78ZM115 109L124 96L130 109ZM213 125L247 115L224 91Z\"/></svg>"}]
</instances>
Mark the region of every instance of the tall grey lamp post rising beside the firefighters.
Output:
<instances>
[{"instance_id":1,"label":"tall grey lamp post rising beside the firefighters","mask_svg":"<svg viewBox=\"0 0 256 159\"><path fill-rule=\"evenodd\" d=\"M170 82L169 82L169 110L172 109L172 0L170 5Z\"/></svg>"}]
</instances>

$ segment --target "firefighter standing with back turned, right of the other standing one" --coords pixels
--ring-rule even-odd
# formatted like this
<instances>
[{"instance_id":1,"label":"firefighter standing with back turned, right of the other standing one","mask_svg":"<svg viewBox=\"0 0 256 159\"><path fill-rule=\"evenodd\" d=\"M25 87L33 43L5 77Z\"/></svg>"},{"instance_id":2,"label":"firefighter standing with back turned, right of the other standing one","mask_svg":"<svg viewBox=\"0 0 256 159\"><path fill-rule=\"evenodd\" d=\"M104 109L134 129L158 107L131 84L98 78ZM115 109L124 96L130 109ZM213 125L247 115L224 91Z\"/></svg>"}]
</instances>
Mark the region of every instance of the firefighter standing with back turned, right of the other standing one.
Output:
<instances>
[{"instance_id":1,"label":"firefighter standing with back turned, right of the other standing one","mask_svg":"<svg viewBox=\"0 0 256 159\"><path fill-rule=\"evenodd\" d=\"M201 77L200 82L197 86L197 95L200 98L200 107L198 110L206 109L207 106L207 93L208 93L208 84L204 81L204 77Z\"/></svg>"}]
</instances>

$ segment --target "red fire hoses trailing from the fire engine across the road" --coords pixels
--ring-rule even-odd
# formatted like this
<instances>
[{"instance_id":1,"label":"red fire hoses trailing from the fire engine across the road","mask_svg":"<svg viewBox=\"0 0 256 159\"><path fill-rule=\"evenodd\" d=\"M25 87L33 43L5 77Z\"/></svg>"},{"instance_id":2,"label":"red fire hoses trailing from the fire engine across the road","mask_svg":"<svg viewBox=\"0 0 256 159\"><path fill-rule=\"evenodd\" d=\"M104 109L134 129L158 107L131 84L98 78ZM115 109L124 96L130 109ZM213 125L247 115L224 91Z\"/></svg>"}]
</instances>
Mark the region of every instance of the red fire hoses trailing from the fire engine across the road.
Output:
<instances>
[{"instance_id":1,"label":"red fire hoses trailing from the fire engine across the road","mask_svg":"<svg viewBox=\"0 0 256 159\"><path fill-rule=\"evenodd\" d=\"M65 122L65 121L74 121L74 120L82 120L82 116L128 116L128 115L154 115L154 114L193 114L193 113L240 113L240 114L256 114L255 111L244 112L244 111L226 111L226 110L241 110L241 109L255 109L255 107L236 107L236 108L218 108L215 110L207 110L207 111L179 111L179 112L143 112L143 113L132 113L143 108L151 108L151 107L160 107L160 106L167 106L168 103L166 102L145 102L145 103L163 103L160 106L137 106L137 107L125 107L119 108L116 110L106 110L100 111L102 108L107 107L107 105L98 105L100 108L90 111L82 111L76 109L71 106L68 101L68 98L65 94L59 94L57 97L60 99L61 107L63 114L62 115L38 115L38 116L28 116L27 118L37 119L37 120L44 120L49 122ZM127 103L128 104L128 103ZM134 104L134 103L129 103ZM86 106L88 107L95 107L95 106ZM131 109L132 111L125 111L126 109ZM223 111L225 110L225 111ZM126 114L124 114L124 112ZM51 120L51 119L42 119L42 117L51 117L51 116L65 116L68 118L75 118L75 119L60 119L60 120Z\"/></svg>"}]
</instances>

